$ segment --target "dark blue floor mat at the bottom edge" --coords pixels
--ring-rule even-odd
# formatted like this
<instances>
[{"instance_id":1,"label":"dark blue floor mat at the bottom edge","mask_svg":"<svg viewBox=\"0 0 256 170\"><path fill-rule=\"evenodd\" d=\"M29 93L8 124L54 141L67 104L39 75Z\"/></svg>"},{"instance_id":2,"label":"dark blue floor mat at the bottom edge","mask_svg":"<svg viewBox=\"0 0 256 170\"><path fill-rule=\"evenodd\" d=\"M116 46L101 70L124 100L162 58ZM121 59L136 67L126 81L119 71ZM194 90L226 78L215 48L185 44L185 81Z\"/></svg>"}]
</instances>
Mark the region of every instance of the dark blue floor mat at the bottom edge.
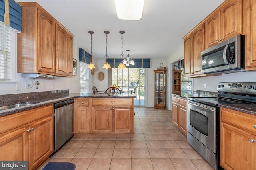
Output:
<instances>
[{"instance_id":1,"label":"dark blue floor mat at the bottom edge","mask_svg":"<svg viewBox=\"0 0 256 170\"><path fill-rule=\"evenodd\" d=\"M75 170L76 166L68 162L49 162L42 170Z\"/></svg>"}]
</instances>

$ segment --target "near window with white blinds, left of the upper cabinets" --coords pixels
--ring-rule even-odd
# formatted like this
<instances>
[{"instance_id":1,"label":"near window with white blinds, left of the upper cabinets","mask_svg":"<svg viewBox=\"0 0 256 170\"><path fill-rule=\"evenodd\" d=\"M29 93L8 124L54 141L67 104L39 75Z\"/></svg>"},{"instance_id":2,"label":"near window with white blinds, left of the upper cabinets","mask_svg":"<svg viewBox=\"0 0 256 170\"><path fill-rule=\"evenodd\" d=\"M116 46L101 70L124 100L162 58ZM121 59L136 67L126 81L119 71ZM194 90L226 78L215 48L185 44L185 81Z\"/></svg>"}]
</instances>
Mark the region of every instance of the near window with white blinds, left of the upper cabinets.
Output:
<instances>
[{"instance_id":1,"label":"near window with white blinds, left of the upper cabinets","mask_svg":"<svg viewBox=\"0 0 256 170\"><path fill-rule=\"evenodd\" d=\"M0 81L10 82L14 79L16 53L12 52L16 49L15 38L14 29L0 21Z\"/></svg>"}]
</instances>

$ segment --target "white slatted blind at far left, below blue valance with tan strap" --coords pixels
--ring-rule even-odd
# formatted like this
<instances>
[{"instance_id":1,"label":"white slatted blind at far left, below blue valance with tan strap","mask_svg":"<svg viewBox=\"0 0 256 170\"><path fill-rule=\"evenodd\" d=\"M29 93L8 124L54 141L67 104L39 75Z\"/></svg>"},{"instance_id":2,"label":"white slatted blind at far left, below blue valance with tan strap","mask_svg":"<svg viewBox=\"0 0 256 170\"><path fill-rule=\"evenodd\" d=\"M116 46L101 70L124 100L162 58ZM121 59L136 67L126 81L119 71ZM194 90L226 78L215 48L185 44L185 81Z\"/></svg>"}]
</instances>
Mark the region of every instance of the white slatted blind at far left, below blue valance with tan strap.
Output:
<instances>
[{"instance_id":1,"label":"white slatted blind at far left, below blue valance with tan strap","mask_svg":"<svg viewBox=\"0 0 256 170\"><path fill-rule=\"evenodd\" d=\"M12 80L12 28L0 21L0 81Z\"/></svg>"}]
</instances>

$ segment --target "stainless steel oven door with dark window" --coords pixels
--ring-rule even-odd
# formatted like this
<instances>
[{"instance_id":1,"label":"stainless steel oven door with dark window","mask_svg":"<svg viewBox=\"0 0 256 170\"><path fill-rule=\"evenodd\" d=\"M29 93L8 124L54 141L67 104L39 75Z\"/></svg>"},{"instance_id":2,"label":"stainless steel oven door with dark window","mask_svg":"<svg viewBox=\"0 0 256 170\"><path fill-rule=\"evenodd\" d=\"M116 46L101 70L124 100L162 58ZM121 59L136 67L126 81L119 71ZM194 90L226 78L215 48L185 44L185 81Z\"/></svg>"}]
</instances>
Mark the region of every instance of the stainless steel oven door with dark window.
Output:
<instances>
[{"instance_id":1,"label":"stainless steel oven door with dark window","mask_svg":"<svg viewBox=\"0 0 256 170\"><path fill-rule=\"evenodd\" d=\"M187 131L216 153L216 107L187 100Z\"/></svg>"}]
</instances>

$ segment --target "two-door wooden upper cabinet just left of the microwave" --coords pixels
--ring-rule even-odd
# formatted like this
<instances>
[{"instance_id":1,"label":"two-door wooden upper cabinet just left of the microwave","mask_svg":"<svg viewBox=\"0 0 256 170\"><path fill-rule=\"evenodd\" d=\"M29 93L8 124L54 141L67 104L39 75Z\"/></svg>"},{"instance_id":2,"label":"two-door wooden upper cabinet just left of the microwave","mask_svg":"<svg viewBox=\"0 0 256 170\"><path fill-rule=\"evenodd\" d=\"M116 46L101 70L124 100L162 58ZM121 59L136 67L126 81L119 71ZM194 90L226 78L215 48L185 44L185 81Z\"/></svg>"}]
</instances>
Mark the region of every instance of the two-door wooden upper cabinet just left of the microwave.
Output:
<instances>
[{"instance_id":1,"label":"two-door wooden upper cabinet just left of the microwave","mask_svg":"<svg viewBox=\"0 0 256 170\"><path fill-rule=\"evenodd\" d=\"M184 76L206 76L201 73L201 51L205 50L204 24L184 38Z\"/></svg>"}]
</instances>

